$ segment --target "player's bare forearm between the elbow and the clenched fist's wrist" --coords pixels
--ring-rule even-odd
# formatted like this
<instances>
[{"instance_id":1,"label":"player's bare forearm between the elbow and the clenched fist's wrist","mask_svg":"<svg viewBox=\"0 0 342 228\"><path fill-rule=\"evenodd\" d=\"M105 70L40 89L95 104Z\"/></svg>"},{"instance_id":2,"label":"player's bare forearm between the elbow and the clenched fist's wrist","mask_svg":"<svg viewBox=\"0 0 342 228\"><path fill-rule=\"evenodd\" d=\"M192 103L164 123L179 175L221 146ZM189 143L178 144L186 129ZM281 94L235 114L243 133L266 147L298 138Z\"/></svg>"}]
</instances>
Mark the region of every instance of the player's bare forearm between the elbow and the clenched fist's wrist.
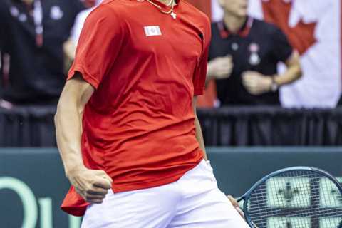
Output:
<instances>
[{"instance_id":1,"label":"player's bare forearm between the elbow and the clenched fist's wrist","mask_svg":"<svg viewBox=\"0 0 342 228\"><path fill-rule=\"evenodd\" d=\"M76 105L58 105L55 116L56 139L61 154L64 170L68 175L71 170L83 167L81 155L81 113Z\"/></svg>"}]
</instances>

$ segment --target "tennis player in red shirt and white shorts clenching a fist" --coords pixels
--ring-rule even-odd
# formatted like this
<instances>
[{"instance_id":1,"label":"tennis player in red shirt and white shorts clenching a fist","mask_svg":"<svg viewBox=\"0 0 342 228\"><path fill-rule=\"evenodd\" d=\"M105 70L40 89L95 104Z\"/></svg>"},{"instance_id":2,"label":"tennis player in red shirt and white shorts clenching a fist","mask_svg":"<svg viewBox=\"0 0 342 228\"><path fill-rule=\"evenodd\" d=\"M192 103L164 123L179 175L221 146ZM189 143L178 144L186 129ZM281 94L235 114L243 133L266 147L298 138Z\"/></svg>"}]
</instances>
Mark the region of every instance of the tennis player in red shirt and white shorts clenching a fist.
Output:
<instances>
[{"instance_id":1,"label":"tennis player in red shirt and white shorts clenching a fist","mask_svg":"<svg viewBox=\"0 0 342 228\"><path fill-rule=\"evenodd\" d=\"M62 209L82 227L248 227L195 113L209 41L209 19L183 0L107 0L88 16L56 113Z\"/></svg>"}]
</instances>

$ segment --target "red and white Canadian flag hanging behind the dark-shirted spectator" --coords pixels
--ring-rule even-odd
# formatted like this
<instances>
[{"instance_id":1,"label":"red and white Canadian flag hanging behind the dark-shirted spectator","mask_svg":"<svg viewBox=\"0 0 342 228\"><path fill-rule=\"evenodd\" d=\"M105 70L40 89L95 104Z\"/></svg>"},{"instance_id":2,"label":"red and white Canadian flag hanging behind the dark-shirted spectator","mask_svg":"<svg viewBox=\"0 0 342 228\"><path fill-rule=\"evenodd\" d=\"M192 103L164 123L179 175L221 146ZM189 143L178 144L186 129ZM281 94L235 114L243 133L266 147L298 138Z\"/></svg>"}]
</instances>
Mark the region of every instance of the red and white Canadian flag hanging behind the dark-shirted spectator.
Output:
<instances>
[{"instance_id":1,"label":"red and white Canadian flag hanging behind the dark-shirted spectator","mask_svg":"<svg viewBox=\"0 0 342 228\"><path fill-rule=\"evenodd\" d=\"M214 5L217 19L222 12ZM336 106L341 95L341 7L336 0L249 0L249 14L279 26L301 54L304 75L281 88L284 107Z\"/></svg>"}]
</instances>

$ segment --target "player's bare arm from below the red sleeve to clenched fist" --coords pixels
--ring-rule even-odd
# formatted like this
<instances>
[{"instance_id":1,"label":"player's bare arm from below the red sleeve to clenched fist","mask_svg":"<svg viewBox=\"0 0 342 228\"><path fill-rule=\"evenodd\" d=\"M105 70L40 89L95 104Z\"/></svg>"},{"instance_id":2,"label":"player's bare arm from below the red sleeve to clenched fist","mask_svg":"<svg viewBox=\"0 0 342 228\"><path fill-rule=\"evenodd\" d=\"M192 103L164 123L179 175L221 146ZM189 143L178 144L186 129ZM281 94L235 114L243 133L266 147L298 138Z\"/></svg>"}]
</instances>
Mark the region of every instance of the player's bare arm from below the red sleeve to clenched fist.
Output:
<instances>
[{"instance_id":1,"label":"player's bare arm from below the red sleeve to clenched fist","mask_svg":"<svg viewBox=\"0 0 342 228\"><path fill-rule=\"evenodd\" d=\"M55 125L66 177L87 202L101 203L113 180L103 170L86 168L81 154L83 110L94 90L80 73L68 80L58 102Z\"/></svg>"}]
</instances>

